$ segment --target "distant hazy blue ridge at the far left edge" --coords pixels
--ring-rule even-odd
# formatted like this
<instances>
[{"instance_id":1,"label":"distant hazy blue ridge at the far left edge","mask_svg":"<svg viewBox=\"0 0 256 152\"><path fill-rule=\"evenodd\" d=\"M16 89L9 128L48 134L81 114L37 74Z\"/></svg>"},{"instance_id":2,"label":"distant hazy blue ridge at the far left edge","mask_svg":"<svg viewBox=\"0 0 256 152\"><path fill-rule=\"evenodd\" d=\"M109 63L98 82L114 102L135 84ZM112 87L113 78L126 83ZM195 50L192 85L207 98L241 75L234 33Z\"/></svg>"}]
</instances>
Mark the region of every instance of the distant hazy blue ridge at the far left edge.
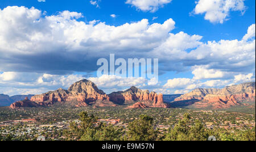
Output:
<instances>
[{"instance_id":1,"label":"distant hazy blue ridge at the far left edge","mask_svg":"<svg viewBox=\"0 0 256 152\"><path fill-rule=\"evenodd\" d=\"M10 104L23 100L26 97L28 97L28 99L31 99L32 96L34 95L9 96L9 95L0 94L0 106L9 106Z\"/></svg>"}]
</instances>

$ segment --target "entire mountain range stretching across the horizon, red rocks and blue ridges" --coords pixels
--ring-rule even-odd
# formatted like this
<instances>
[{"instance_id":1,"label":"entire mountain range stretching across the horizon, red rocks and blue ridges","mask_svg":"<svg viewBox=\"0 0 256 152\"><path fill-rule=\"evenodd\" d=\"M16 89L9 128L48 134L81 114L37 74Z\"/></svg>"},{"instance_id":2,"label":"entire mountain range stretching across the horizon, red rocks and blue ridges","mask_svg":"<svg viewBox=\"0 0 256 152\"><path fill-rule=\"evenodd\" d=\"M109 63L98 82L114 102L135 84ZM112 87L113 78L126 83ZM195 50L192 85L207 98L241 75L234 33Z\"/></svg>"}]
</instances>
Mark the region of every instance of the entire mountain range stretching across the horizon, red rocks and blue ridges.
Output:
<instances>
[{"instance_id":1,"label":"entire mountain range stretching across the horizon, red rocks and blue ridges","mask_svg":"<svg viewBox=\"0 0 256 152\"><path fill-rule=\"evenodd\" d=\"M24 99L25 100L21 100ZM19 101L20 100L20 101ZM222 109L236 105L255 107L255 82L224 88L196 88L184 95L162 95L148 90L131 87L125 91L105 94L104 91L91 81L83 79L74 83L68 90L59 88L41 95L0 95L1 105L10 105L10 108L47 107L63 104L76 107L116 107L130 105L126 108L168 108L192 107ZM16 102L18 101L18 102ZM15 103L13 103L15 102Z\"/></svg>"}]
</instances>

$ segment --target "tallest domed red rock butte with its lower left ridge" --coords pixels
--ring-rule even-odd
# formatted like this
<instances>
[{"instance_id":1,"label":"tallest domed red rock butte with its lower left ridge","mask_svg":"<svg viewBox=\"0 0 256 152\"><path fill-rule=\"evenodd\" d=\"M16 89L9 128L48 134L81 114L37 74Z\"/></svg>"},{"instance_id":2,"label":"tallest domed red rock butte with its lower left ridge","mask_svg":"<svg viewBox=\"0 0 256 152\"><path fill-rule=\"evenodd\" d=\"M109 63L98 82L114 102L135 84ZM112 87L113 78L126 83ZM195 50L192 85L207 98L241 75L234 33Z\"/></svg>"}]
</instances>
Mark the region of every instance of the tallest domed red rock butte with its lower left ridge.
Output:
<instances>
[{"instance_id":1,"label":"tallest domed red rock butte with its lower left ridge","mask_svg":"<svg viewBox=\"0 0 256 152\"><path fill-rule=\"evenodd\" d=\"M89 104L96 104L98 107L115 106L104 91L99 90L93 82L86 79L74 83L68 90L59 88L46 94L35 95L31 101L39 105L52 105L58 102L76 107L85 107Z\"/></svg>"}]
</instances>

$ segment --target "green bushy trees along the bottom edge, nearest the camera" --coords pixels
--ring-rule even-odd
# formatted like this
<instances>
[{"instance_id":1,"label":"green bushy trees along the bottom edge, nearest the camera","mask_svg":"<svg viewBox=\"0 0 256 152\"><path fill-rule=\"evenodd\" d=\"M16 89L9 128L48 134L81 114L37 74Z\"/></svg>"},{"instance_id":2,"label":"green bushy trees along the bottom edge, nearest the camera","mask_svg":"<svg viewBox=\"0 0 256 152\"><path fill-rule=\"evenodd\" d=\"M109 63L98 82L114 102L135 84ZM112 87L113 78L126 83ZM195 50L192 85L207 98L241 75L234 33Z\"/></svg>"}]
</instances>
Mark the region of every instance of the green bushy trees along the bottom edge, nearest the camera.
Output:
<instances>
[{"instance_id":1,"label":"green bushy trees along the bottom edge, nearest the camera","mask_svg":"<svg viewBox=\"0 0 256 152\"><path fill-rule=\"evenodd\" d=\"M68 140L82 141L207 141L210 136L221 141L255 141L255 127L253 129L230 133L223 129L210 130L199 120L191 120L185 113L184 118L161 134L154 129L152 117L141 115L138 120L129 123L127 130L113 125L98 124L97 118L88 113L80 113L81 124L71 123L71 128L65 130Z\"/></svg>"}]
</instances>

